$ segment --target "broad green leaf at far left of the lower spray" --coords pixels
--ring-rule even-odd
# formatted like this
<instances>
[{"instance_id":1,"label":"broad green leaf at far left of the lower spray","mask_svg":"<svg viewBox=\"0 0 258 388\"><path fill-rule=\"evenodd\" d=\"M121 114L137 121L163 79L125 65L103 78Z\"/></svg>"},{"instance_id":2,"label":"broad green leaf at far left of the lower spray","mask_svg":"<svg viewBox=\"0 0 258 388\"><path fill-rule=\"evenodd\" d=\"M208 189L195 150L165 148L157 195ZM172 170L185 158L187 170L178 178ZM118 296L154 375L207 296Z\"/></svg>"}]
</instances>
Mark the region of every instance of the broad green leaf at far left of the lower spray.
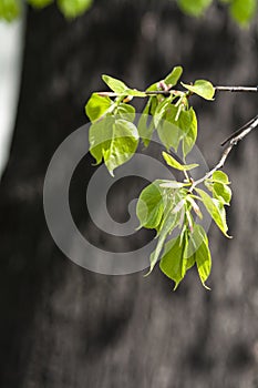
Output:
<instances>
[{"instance_id":1,"label":"broad green leaf at far left of the lower spray","mask_svg":"<svg viewBox=\"0 0 258 388\"><path fill-rule=\"evenodd\" d=\"M161 180L154 181L145 187L138 198L136 206L136 215L141 227L157 228L161 224L164 213L164 200L161 185Z\"/></svg>"}]
</instances>

